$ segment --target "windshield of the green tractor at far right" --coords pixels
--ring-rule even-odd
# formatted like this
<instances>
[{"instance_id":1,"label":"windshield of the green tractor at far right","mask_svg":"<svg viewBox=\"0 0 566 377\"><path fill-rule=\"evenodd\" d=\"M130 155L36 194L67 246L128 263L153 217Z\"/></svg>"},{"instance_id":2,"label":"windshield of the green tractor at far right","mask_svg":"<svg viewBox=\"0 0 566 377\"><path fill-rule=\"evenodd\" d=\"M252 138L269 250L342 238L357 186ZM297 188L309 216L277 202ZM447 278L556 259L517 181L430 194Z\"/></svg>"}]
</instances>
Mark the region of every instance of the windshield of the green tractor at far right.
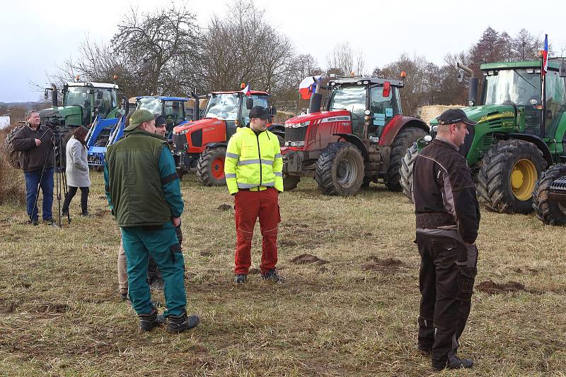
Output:
<instances>
[{"instance_id":1,"label":"windshield of the green tractor at far right","mask_svg":"<svg viewBox=\"0 0 566 377\"><path fill-rule=\"evenodd\" d=\"M541 74L533 69L488 71L485 80L485 104L532 105L541 102ZM491 74L490 74L491 73Z\"/></svg>"}]
</instances>

